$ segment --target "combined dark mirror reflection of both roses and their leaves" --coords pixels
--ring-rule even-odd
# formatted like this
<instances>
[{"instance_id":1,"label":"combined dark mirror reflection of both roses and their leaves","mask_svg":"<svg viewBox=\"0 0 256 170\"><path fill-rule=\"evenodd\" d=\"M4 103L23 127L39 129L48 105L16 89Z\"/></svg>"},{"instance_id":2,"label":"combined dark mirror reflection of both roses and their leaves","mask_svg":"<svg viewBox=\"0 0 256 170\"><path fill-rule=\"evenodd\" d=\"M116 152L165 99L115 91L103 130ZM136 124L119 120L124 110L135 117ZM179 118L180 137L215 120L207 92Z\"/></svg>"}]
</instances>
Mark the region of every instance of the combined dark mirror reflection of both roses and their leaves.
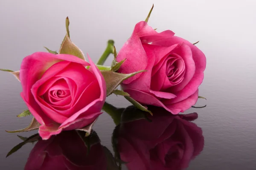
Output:
<instances>
[{"instance_id":1,"label":"combined dark mirror reflection of both roses and their leaves","mask_svg":"<svg viewBox=\"0 0 256 170\"><path fill-rule=\"evenodd\" d=\"M189 166L204 148L204 137L194 121L197 113L170 115L151 107L153 116L134 106L116 112L116 127L111 136L113 154L102 146L93 131L64 131L42 140L37 134L23 137L7 156L36 143L29 153L25 170L181 170ZM115 119L117 120L117 119ZM122 168L123 167L123 168Z\"/></svg>"}]
</instances>

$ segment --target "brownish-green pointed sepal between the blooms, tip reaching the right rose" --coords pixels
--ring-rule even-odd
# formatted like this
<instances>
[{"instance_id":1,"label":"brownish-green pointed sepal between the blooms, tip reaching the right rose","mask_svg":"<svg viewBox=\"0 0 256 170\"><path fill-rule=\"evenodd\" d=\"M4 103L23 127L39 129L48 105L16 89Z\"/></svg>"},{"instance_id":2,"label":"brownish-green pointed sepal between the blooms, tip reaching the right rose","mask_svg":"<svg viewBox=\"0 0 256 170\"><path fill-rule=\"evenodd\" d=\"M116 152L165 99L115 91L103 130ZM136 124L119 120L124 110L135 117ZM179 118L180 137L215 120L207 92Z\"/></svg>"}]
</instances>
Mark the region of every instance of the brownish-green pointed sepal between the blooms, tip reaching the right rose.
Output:
<instances>
[{"instance_id":1,"label":"brownish-green pointed sepal between the blooms, tip reaching the right rose","mask_svg":"<svg viewBox=\"0 0 256 170\"><path fill-rule=\"evenodd\" d=\"M122 83L122 81L144 71L145 70L141 70L131 74L121 74L113 71L101 71L107 86L107 96L112 94L116 87Z\"/></svg>"}]
</instances>

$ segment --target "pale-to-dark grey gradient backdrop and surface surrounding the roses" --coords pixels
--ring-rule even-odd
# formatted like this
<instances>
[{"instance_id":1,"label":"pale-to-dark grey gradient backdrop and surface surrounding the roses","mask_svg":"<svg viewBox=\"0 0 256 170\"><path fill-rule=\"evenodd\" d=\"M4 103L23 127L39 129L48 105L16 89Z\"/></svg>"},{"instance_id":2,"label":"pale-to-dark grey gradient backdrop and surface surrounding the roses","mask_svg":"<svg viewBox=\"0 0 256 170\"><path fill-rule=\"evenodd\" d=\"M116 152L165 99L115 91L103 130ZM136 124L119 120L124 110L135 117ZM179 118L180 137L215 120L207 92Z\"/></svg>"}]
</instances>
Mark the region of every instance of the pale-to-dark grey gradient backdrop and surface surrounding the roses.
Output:
<instances>
[{"instance_id":1,"label":"pale-to-dark grey gradient backdrop and surface surrounding the roses","mask_svg":"<svg viewBox=\"0 0 256 170\"><path fill-rule=\"evenodd\" d=\"M189 170L253 170L256 167L256 1L255 0L0 0L0 68L19 70L23 57L43 46L57 50L70 18L71 40L96 62L108 39L117 50L134 25L145 20L152 3L149 25L171 29L207 56L207 69L198 105L207 104L195 121L202 127L205 147ZM110 65L111 57L106 62ZM26 110L20 83L0 72L0 169L20 170L32 144L14 155L6 153L20 140L4 130L25 127L30 118L17 118ZM128 106L122 97L107 99ZM22 119L22 120L20 120ZM111 147L114 124L102 114L94 129L102 144ZM32 133L20 135L29 136Z\"/></svg>"}]
</instances>

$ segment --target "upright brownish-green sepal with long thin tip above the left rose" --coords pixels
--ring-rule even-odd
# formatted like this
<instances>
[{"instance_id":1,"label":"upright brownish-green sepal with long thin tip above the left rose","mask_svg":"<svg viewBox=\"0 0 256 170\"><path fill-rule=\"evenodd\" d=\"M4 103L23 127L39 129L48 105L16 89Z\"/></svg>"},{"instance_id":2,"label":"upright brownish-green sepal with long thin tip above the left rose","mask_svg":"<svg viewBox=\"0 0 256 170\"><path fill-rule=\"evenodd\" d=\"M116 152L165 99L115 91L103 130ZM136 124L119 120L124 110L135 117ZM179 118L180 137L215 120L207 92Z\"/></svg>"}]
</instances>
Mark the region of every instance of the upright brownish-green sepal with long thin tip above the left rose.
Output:
<instances>
[{"instance_id":1,"label":"upright brownish-green sepal with long thin tip above the left rose","mask_svg":"<svg viewBox=\"0 0 256 170\"><path fill-rule=\"evenodd\" d=\"M83 52L70 40L68 17L66 18L66 30L67 34L61 43L59 54L70 54L85 60Z\"/></svg>"}]
</instances>

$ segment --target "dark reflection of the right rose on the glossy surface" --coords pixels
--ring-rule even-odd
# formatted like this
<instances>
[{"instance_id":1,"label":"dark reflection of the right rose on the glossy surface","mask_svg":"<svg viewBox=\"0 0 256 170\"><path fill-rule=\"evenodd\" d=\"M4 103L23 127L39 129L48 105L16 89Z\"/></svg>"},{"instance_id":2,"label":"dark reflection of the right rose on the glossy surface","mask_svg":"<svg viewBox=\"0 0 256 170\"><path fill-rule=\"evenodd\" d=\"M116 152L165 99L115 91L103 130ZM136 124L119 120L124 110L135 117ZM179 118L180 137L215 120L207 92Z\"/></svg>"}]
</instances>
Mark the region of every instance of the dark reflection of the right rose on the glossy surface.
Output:
<instances>
[{"instance_id":1,"label":"dark reflection of the right rose on the glossy surface","mask_svg":"<svg viewBox=\"0 0 256 170\"><path fill-rule=\"evenodd\" d=\"M159 108L149 117L122 123L118 151L129 170L181 170L203 150L197 113L170 115Z\"/></svg>"}]
</instances>

